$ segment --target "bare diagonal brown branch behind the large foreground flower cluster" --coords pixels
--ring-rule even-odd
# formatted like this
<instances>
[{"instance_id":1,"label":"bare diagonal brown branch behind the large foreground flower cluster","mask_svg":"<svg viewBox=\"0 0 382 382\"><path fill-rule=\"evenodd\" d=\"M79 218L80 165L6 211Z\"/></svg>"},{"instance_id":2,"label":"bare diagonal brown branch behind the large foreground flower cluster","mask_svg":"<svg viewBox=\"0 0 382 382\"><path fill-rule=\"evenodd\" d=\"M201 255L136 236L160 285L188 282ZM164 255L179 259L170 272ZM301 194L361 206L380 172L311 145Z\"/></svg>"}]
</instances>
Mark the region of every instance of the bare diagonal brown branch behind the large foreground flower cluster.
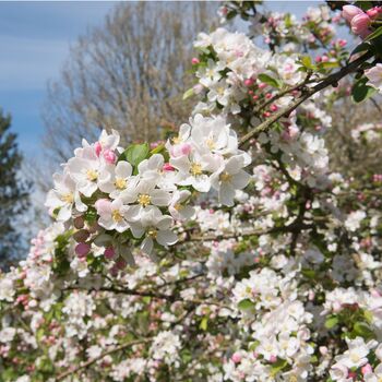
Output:
<instances>
[{"instance_id":1,"label":"bare diagonal brown branch behind the large foreground flower cluster","mask_svg":"<svg viewBox=\"0 0 382 382\"><path fill-rule=\"evenodd\" d=\"M291 111L294 111L298 106L300 106L303 102L309 99L313 94L324 89L327 86L336 85L341 79L346 76L347 74L350 74L355 72L360 64L366 62L368 59L370 59L373 56L371 51L368 51L366 55L359 57L357 60L350 62L347 67L341 69L339 71L329 75L326 79L322 80L320 83L318 83L312 88L303 92L300 97L298 97L295 102L293 102L289 106L286 108L279 110L278 112L275 112L273 116L271 116L267 120L260 123L258 127L252 129L250 132L248 132L246 135L243 135L239 142L239 146L242 147L250 139L255 136L256 134L266 131L271 128L271 126L278 121L282 117L289 115Z\"/></svg>"}]
</instances>

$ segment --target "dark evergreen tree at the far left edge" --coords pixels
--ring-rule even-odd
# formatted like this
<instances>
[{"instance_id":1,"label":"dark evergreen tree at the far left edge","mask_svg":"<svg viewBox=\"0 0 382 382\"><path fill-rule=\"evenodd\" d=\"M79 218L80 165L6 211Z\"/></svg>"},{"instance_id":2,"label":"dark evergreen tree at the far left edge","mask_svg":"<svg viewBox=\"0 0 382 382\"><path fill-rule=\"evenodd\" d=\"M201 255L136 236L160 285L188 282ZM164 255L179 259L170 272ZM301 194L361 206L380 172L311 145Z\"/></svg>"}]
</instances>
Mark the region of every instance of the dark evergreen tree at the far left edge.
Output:
<instances>
[{"instance_id":1,"label":"dark evergreen tree at the far left edge","mask_svg":"<svg viewBox=\"0 0 382 382\"><path fill-rule=\"evenodd\" d=\"M22 236L20 218L29 203L31 183L20 179L23 157L16 134L10 132L11 117L0 110L0 265L20 258ZM22 254L25 256L25 254Z\"/></svg>"}]
</instances>

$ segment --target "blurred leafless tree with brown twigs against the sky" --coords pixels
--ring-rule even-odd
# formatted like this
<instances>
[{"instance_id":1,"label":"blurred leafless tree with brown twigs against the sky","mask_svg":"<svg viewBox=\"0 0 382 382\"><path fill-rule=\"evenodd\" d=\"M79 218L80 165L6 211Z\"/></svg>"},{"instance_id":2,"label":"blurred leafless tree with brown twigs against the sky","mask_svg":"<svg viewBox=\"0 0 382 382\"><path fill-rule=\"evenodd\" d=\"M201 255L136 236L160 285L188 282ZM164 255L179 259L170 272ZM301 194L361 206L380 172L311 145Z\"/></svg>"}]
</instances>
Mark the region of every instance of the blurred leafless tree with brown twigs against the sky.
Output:
<instances>
[{"instance_id":1,"label":"blurred leafless tree with brown twigs against the sky","mask_svg":"<svg viewBox=\"0 0 382 382\"><path fill-rule=\"evenodd\" d=\"M83 136L116 129L122 143L155 141L160 128L189 116L181 102L191 76L191 44L212 26L217 3L128 2L72 47L61 76L48 85L45 144L53 163ZM187 17L184 17L187 14Z\"/></svg>"}]
</instances>

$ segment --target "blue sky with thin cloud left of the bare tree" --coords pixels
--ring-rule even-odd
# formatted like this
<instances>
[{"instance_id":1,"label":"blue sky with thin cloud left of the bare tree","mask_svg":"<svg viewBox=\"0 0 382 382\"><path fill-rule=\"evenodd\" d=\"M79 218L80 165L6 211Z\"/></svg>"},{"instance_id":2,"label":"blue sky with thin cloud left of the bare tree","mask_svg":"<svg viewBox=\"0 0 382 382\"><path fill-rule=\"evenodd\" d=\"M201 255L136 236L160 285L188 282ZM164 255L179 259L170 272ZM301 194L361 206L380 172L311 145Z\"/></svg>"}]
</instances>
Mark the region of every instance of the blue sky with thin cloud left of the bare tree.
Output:
<instances>
[{"instance_id":1,"label":"blue sky with thin cloud left of the bare tree","mask_svg":"<svg viewBox=\"0 0 382 382\"><path fill-rule=\"evenodd\" d=\"M70 44L102 24L114 2L0 2L0 106L26 157L39 151L46 84L57 79Z\"/></svg>"}]
</instances>

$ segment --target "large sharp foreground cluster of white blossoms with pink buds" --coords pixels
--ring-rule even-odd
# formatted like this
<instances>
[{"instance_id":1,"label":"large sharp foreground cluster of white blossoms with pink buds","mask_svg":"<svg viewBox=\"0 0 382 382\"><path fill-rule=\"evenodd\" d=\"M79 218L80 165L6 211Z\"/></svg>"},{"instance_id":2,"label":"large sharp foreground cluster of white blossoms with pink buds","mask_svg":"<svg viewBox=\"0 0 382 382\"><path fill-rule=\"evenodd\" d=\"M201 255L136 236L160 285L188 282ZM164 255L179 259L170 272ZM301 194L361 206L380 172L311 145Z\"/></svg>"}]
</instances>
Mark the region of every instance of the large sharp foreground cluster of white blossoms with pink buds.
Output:
<instances>
[{"instance_id":1,"label":"large sharp foreground cluster of white blossoms with pink buds","mask_svg":"<svg viewBox=\"0 0 382 382\"><path fill-rule=\"evenodd\" d=\"M193 216L187 204L194 191L214 190L219 203L231 206L236 190L249 182L243 168L250 156L238 148L223 116L194 116L160 151L133 145L123 152L118 144L118 132L103 131L96 143L84 141L63 174L53 177L46 205L59 222L74 222L79 258L86 258L95 243L105 247L106 259L117 259L117 266L133 264L128 231L152 254L155 243L177 242L172 227ZM94 224L84 228L89 217Z\"/></svg>"}]
</instances>

